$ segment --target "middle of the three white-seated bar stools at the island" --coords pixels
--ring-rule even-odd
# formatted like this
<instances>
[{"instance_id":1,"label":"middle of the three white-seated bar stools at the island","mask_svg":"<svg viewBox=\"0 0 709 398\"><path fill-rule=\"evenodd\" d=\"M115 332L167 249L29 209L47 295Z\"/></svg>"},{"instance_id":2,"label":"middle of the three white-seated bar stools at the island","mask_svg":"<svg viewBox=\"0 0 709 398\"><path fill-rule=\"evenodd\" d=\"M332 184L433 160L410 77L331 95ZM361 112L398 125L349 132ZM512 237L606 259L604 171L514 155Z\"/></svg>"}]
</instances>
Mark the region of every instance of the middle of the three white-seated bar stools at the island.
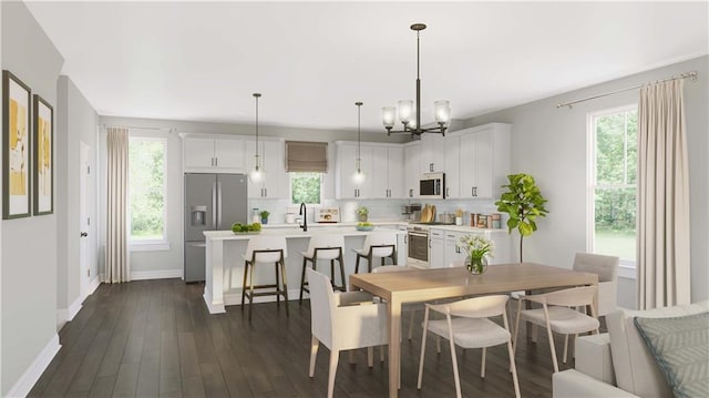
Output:
<instances>
[{"instance_id":1,"label":"middle of the three white-seated bar stools at the island","mask_svg":"<svg viewBox=\"0 0 709 398\"><path fill-rule=\"evenodd\" d=\"M302 292L308 292L308 283L306 282L306 268L308 262L312 263L312 271L318 271L319 259L330 261L330 283L332 289L347 292L345 284L345 261L342 259L342 248L345 247L345 237L342 235L315 235L308 243L308 251L300 253L302 255L302 275L300 276L300 298L298 299L302 304ZM341 285L335 284L335 261L340 264L340 280Z\"/></svg>"}]
</instances>

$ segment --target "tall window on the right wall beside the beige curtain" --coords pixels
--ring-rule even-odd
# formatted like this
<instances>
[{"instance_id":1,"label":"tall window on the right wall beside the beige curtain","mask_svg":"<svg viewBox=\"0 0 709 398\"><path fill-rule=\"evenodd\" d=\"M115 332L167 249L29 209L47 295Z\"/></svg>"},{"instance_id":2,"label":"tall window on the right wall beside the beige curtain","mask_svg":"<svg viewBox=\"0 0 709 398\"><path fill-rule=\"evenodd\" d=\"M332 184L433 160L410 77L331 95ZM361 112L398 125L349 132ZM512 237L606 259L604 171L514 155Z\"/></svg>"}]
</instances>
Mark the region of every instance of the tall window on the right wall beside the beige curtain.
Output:
<instances>
[{"instance_id":1,"label":"tall window on the right wall beside the beige curtain","mask_svg":"<svg viewBox=\"0 0 709 398\"><path fill-rule=\"evenodd\" d=\"M590 118L589 251L636 263L637 106Z\"/></svg>"}]
</instances>

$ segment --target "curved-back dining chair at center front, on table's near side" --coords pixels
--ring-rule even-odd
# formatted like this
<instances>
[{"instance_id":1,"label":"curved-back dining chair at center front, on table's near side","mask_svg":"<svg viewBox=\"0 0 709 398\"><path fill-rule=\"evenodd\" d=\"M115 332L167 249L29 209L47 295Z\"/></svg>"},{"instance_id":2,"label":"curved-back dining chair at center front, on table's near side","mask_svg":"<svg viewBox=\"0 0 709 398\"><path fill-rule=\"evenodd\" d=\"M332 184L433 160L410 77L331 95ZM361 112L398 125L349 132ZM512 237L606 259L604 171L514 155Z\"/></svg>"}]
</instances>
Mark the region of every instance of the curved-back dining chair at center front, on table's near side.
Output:
<instances>
[{"instance_id":1,"label":"curved-back dining chair at center front, on table's near side","mask_svg":"<svg viewBox=\"0 0 709 398\"><path fill-rule=\"evenodd\" d=\"M427 304L423 316L423 338L421 339L421 359L419 361L418 388L421 389L423 379L423 361L425 356L427 331L446 338L451 346L451 360L453 363L453 376L455 378L455 395L462 397L461 381L458 370L455 346L463 348L482 348L482 364L480 376L485 377L485 354L487 347L507 345L510 356L510 371L514 385L515 397L520 397L520 384L517 369L514 363L512 335L506 314L506 295L481 296L466 298L448 304ZM429 320L430 312L445 315L445 319ZM491 317L502 317L504 327L492 322Z\"/></svg>"}]
</instances>

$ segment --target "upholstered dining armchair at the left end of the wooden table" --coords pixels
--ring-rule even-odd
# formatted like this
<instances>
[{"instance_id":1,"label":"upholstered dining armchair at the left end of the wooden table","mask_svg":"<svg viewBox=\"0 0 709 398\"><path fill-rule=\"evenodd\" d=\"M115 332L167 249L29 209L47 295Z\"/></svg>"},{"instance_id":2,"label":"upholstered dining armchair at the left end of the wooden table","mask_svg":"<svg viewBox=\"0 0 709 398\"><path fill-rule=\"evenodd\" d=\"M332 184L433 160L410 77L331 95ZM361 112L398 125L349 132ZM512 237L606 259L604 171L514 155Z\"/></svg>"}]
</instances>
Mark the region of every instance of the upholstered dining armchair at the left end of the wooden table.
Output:
<instances>
[{"instance_id":1,"label":"upholstered dining armchair at the left end of the wooden table","mask_svg":"<svg viewBox=\"0 0 709 398\"><path fill-rule=\"evenodd\" d=\"M388 341L387 306L376 304L366 292L335 293L327 275L312 268L306 269L310 286L310 368L315 376L315 363L320 344L330 349L328 398L335 389L335 375L340 350L367 347L367 360L373 366L373 347Z\"/></svg>"}]
</instances>

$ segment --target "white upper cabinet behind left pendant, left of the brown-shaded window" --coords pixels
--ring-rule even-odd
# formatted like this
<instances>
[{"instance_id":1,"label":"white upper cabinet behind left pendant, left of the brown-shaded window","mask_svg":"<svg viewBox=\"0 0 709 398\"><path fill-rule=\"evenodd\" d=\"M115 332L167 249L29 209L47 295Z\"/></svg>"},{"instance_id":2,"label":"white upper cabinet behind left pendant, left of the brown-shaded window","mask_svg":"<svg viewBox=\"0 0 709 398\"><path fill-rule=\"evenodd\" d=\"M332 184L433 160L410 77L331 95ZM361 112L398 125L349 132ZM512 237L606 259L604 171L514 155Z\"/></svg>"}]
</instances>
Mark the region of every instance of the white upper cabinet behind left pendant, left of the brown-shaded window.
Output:
<instances>
[{"instance_id":1,"label":"white upper cabinet behind left pendant, left of the brown-shaded window","mask_svg":"<svg viewBox=\"0 0 709 398\"><path fill-rule=\"evenodd\" d=\"M254 167L256 155L256 141L246 141L247 170ZM254 184L248 182L248 197L251 198L287 198L288 197L288 174L286 173L286 162L284 155L282 140L259 140L258 154L260 155L264 181Z\"/></svg>"}]
</instances>

